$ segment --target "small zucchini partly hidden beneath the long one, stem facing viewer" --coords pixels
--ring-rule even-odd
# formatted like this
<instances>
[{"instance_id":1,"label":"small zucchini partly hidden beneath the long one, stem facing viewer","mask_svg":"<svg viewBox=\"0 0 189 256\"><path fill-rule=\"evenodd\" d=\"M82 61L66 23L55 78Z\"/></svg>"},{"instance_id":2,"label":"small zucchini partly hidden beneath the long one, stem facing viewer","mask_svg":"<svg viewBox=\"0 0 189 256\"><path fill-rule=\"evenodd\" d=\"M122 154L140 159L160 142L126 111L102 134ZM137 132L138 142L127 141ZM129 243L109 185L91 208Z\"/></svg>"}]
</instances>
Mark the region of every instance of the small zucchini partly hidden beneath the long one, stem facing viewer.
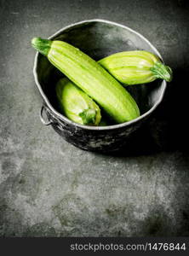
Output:
<instances>
[{"instance_id":1,"label":"small zucchini partly hidden beneath the long one, stem facing viewer","mask_svg":"<svg viewBox=\"0 0 189 256\"><path fill-rule=\"evenodd\" d=\"M62 112L81 125L99 125L99 106L69 79L60 79L55 87Z\"/></svg>"}]
</instances>

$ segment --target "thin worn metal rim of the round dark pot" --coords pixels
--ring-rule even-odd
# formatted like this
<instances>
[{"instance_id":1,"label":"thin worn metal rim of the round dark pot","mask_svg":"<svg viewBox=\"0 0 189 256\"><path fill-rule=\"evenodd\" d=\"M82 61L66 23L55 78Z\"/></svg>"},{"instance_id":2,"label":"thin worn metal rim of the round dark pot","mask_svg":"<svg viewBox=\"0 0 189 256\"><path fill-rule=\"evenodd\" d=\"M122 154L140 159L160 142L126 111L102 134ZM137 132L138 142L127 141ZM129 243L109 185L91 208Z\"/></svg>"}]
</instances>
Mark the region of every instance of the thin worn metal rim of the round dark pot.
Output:
<instances>
[{"instance_id":1,"label":"thin worn metal rim of the round dark pot","mask_svg":"<svg viewBox=\"0 0 189 256\"><path fill-rule=\"evenodd\" d=\"M117 22L114 21L110 21L110 20L103 20L103 19L93 19L93 20L82 20L76 23L73 23L71 25L65 26L63 28L61 28L59 31L55 32L52 36L50 36L48 39L54 39L55 37L57 37L58 35L61 34L61 32L64 32L66 29L71 28L73 26L77 26L80 24L84 24L84 23L95 23L95 22L101 22L101 23L107 23L107 24L111 24L111 25L115 25L115 26L120 26L123 27L126 30L129 30L130 32L135 33L137 36L139 36L140 38L142 38L144 41L146 41L147 44L149 44L151 46L151 48L154 50L154 52L156 53L156 55L158 55L158 57L163 61L162 56L160 55L160 53L158 52L158 49L156 49L151 43L150 41L148 41L144 36L142 36L139 32L135 32L135 30L129 28L128 26L124 26L122 24L119 24ZM162 102L163 100L163 96L164 96L164 92L166 90L167 87L167 82L165 80L162 81L162 92L161 95L159 96L158 101L153 105L152 108L150 108L146 113L141 114L138 118L130 120L128 122L124 122L122 124L117 124L117 125L106 125L106 126L89 126L89 125L80 125L77 124L75 122L73 122L70 119L67 119L63 114L57 112L53 106L50 104L49 99L47 96L45 96L45 94L43 93L41 84L38 81L37 78L37 59L38 59L38 55L39 53L37 52L37 54L35 55L35 60L34 60L34 67L33 67L33 75L34 75L34 79L35 79L35 83L37 84L37 88L40 91L41 96L43 97L43 101L46 103L46 105L49 107L49 109L52 111L52 113L54 113L60 120L65 121L66 123L70 124L70 125L74 125L77 126L79 128L82 128L84 130L93 130L93 131L101 131L101 130L113 130L113 129L117 129L117 128L123 128L129 125L133 125L136 122L140 121L141 119L145 119L146 116L150 115L160 104L160 102Z\"/></svg>"}]
</instances>

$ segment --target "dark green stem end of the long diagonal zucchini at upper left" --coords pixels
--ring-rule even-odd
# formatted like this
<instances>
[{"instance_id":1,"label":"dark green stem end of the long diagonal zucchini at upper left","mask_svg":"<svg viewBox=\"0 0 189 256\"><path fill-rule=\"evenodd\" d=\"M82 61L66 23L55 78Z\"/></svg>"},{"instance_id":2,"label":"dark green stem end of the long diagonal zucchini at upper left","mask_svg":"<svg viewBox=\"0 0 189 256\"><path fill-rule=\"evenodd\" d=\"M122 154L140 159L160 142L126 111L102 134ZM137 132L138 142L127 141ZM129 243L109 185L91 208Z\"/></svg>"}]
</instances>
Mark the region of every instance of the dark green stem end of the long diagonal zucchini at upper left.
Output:
<instances>
[{"instance_id":1,"label":"dark green stem end of the long diagonal zucchini at upper left","mask_svg":"<svg viewBox=\"0 0 189 256\"><path fill-rule=\"evenodd\" d=\"M52 41L43 38L32 38L31 45L37 49L42 55L47 56L51 47Z\"/></svg>"}]
</instances>

